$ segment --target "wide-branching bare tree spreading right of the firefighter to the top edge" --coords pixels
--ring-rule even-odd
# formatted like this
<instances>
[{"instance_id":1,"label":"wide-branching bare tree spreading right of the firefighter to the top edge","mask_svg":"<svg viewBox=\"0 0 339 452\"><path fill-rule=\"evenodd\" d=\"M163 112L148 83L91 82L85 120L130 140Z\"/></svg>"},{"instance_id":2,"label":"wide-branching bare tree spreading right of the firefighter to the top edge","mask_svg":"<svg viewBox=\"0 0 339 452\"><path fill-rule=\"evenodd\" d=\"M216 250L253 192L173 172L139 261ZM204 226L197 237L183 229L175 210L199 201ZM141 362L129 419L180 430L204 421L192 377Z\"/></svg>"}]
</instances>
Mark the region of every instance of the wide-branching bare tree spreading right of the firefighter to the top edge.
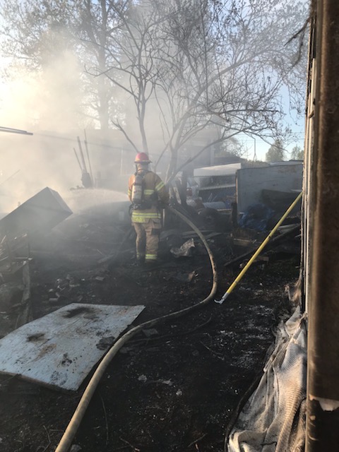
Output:
<instances>
[{"instance_id":1,"label":"wide-branching bare tree spreading right of the firefighter to the top edge","mask_svg":"<svg viewBox=\"0 0 339 452\"><path fill-rule=\"evenodd\" d=\"M147 109L157 111L164 141L161 155L167 150L171 155L167 178L186 164L178 164L179 150L207 128L218 128L219 133L187 162L239 132L279 135L280 89L290 81L295 52L292 45L284 45L287 30L292 33L302 12L307 14L301 2L294 9L287 6L277 0L141 2L138 25L129 28L129 39L145 44L147 35L148 44L143 52L132 44L129 61L119 70L129 73L137 87L133 95L138 93L142 105L137 111L143 145ZM148 96L141 92L143 82L148 83Z\"/></svg>"}]
</instances>

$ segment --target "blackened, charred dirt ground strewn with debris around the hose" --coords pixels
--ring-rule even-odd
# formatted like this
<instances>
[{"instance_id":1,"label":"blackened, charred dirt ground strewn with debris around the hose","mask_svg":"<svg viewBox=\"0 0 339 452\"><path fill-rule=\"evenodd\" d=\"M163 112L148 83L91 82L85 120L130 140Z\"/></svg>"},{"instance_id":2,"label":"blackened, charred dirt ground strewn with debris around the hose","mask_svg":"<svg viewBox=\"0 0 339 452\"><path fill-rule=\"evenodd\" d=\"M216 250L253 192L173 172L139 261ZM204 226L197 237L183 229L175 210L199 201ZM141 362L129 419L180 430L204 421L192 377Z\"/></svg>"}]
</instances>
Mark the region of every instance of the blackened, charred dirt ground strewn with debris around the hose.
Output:
<instances>
[{"instance_id":1,"label":"blackened, charred dirt ground strewn with debris around the hose","mask_svg":"<svg viewBox=\"0 0 339 452\"><path fill-rule=\"evenodd\" d=\"M133 234L124 241L127 232L104 208L90 209L35 244L33 319L72 302L143 304L137 325L209 295L210 261L194 234L195 246L186 257L170 251L182 235L162 239L160 263L148 270L133 266ZM182 243L189 235L186 230ZM239 263L225 263L244 249L234 246L230 232L206 237L217 263L220 299L240 271ZM292 245L289 252L267 251L268 259L254 263L224 304L212 301L126 343L100 381L71 450L222 452L232 417L261 374L275 326L291 314L285 286L299 275L298 245ZM107 250L119 246L114 260L100 263ZM54 451L89 379L65 393L0 375L0 450Z\"/></svg>"}]
</instances>

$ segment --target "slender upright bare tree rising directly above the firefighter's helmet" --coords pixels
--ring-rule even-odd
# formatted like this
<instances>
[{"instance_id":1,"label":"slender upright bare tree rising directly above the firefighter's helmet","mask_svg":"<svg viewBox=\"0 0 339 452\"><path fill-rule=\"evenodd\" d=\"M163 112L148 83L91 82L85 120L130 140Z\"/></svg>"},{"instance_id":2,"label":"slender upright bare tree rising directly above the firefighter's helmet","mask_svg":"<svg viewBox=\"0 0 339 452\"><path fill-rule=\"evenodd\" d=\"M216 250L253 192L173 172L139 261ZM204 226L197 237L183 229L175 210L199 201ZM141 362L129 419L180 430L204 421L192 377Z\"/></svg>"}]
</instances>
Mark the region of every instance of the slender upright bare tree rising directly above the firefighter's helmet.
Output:
<instances>
[{"instance_id":1,"label":"slender upright bare tree rising directly above the firefighter's helmet","mask_svg":"<svg viewBox=\"0 0 339 452\"><path fill-rule=\"evenodd\" d=\"M124 134L136 150L148 153L146 107L154 95L159 70L154 63L157 56L157 28L162 18L153 18L143 12L143 6L133 8L129 16L114 8L122 24L121 35L112 37L117 52L111 66L99 75L108 78L119 91L119 102L124 109L112 117L112 124ZM112 52L112 49L109 49ZM137 125L135 124L136 119ZM138 133L135 133L135 131ZM141 143L140 143L141 142Z\"/></svg>"}]
</instances>

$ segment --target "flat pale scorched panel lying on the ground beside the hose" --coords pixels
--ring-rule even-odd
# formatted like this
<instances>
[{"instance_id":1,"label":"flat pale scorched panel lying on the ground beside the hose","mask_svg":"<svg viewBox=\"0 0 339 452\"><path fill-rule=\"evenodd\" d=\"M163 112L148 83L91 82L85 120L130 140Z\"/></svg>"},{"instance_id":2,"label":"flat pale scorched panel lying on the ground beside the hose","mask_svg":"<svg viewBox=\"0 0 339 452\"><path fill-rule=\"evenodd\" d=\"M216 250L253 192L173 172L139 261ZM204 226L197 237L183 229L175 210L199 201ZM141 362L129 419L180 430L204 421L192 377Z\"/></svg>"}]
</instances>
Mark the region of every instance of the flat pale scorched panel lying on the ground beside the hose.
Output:
<instances>
[{"instance_id":1,"label":"flat pale scorched panel lying on the ground beside the hose","mask_svg":"<svg viewBox=\"0 0 339 452\"><path fill-rule=\"evenodd\" d=\"M0 372L75 391L143 306L69 304L0 340Z\"/></svg>"}]
</instances>

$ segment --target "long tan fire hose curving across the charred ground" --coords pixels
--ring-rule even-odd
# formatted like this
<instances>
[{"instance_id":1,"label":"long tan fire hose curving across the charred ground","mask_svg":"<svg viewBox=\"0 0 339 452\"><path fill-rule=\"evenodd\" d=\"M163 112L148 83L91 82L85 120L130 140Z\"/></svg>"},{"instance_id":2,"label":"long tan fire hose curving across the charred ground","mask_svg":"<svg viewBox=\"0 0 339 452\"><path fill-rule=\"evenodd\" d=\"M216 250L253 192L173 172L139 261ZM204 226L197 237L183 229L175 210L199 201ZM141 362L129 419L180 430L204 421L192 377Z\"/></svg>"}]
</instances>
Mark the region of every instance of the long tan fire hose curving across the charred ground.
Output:
<instances>
[{"instance_id":1,"label":"long tan fire hose curving across the charred ground","mask_svg":"<svg viewBox=\"0 0 339 452\"><path fill-rule=\"evenodd\" d=\"M204 305L208 304L211 300L213 300L213 297L215 295L215 292L217 291L217 285L218 285L218 275L217 275L217 269L215 266L214 257L212 254L212 251L210 251L210 247L208 246L208 243L203 237L203 234L198 230L196 225L194 225L189 218L186 218L185 215L180 213L178 210L168 207L168 209L174 213L174 215L177 215L179 218L184 220L187 225L189 225L194 232L198 235L198 237L201 239L201 242L203 242L204 246L206 247L206 250L208 251L208 257L210 258L210 265L212 267L212 273L213 273L213 285L210 290L209 295L203 299L201 302L198 302L197 304L194 304L191 307L181 309L180 311L172 312L171 314L167 314L162 317L158 317L157 319L153 319L150 321L147 321L145 323L141 323L138 326L135 326L134 328L131 328L131 330L124 333L124 335L121 336L117 340L114 345L108 350L105 357L102 359L100 364L98 365L97 369L95 370L92 378L90 379L88 386L86 386L85 391L83 393L83 396L81 397L81 400L78 403L78 406L76 408L76 411L74 412L71 421L69 422L69 425L67 426L63 436L61 437L61 440L59 441L59 444L57 448L55 449L55 452L67 452L69 451L69 448L72 444L72 441L74 439L74 436L76 435L76 432L78 430L78 427L81 424L81 420L83 420L83 416L85 415L85 410L88 408L88 405L90 403L90 400L95 392L95 389L97 388L98 383L100 382L100 379L102 378L103 374L105 373L109 363L112 361L115 355L117 355L117 352L120 350L120 348L131 338L133 338L134 335L142 331L144 328L150 328L152 326L155 326L160 323L164 323L165 321L169 321L172 319L176 319L179 316L183 316L185 314L188 314L191 311L194 311L195 309L201 308Z\"/></svg>"}]
</instances>

